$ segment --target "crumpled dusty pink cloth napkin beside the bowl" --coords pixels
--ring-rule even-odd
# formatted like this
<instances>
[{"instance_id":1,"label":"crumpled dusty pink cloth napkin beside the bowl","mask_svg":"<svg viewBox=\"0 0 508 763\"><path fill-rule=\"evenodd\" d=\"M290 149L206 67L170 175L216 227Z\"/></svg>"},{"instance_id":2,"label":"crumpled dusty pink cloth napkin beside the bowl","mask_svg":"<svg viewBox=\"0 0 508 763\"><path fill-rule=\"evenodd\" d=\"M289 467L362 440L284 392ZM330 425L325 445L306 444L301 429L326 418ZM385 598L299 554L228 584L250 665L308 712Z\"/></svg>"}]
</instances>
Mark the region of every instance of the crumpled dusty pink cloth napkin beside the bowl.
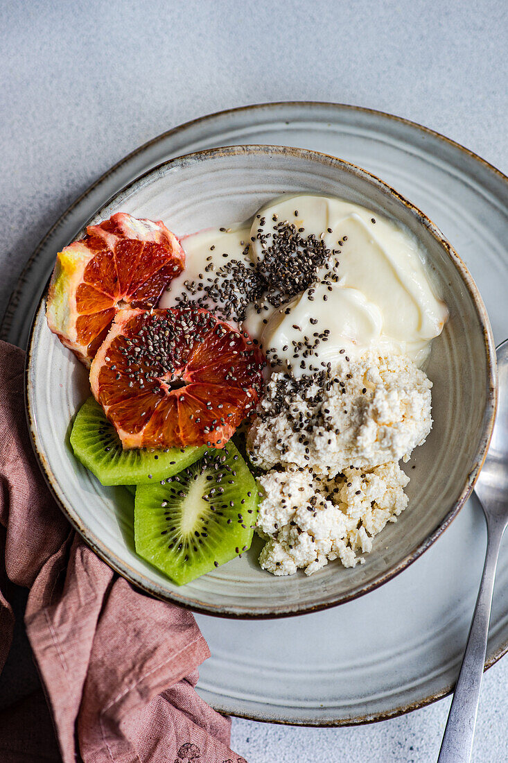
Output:
<instances>
[{"instance_id":1,"label":"crumpled dusty pink cloth napkin beside the bowl","mask_svg":"<svg viewBox=\"0 0 508 763\"><path fill-rule=\"evenodd\" d=\"M25 626L50 713L36 693L0 714L0 761L245 763L230 720L195 692L210 652L192 614L116 575L53 501L27 433L23 366L0 342L0 670L8 578L30 588Z\"/></svg>"}]
</instances>

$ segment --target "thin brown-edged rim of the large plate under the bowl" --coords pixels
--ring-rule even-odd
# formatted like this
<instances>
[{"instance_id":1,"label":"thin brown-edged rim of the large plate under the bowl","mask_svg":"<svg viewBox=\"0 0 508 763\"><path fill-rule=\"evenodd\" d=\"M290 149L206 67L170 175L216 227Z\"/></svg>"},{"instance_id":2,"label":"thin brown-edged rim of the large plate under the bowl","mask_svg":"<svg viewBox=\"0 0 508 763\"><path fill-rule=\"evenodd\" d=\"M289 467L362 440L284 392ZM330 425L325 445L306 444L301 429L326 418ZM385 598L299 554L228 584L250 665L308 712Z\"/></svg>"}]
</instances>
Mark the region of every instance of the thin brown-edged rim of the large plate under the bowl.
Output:
<instances>
[{"instance_id":1,"label":"thin brown-edged rim of the large plate under the bowl","mask_svg":"<svg viewBox=\"0 0 508 763\"><path fill-rule=\"evenodd\" d=\"M286 107L301 107L301 108L330 108L330 113L335 115L335 118L339 118L341 111L358 111L366 115L371 115L372 117L378 117L383 118L383 121L394 121L399 124L405 124L408 127L410 127L415 134L423 135L429 135L431 137L435 137L438 139L438 143L442 142L447 144L448 146L452 147L455 150L458 150L459 152L465 154L465 156L468 156L468 158L474 160L475 163L479 163L481 166L483 166L484 169L491 172L493 175L497 177L500 181L503 182L503 184L508 187L508 176L501 172L500 169L498 169L493 164L487 162L486 159L483 159L481 156L479 156L477 153L474 153L473 151L469 150L465 146L461 145L461 143L458 143L455 140L452 140L449 137L446 137L444 134L439 133L436 130L432 130L429 127L425 127L422 124L417 123L416 121L411 121L406 118L399 117L395 114L390 114L385 111L372 109L372 108L366 108L362 106L356 106L356 105L350 105L350 104L341 104L333 101L274 101L274 102L262 102L258 104L253 105L246 105L246 106L240 106L235 108L229 108L229 109L223 109L220 111L213 112L211 114L204 114L201 117L186 121L183 124L179 124L175 127L172 127L170 130L164 131L162 134L159 134L158 136L146 141L146 143L143 143L142 146L139 146L135 150L131 151L127 154L127 156L124 156L123 159L121 159L119 162L115 163L114 166L111 166L106 172L104 172L98 179L95 180L95 182L90 185L85 192L83 192L81 195L79 195L78 198L76 198L75 201L70 204L68 208L61 214L56 222L50 227L50 229L47 231L47 233L43 236L43 238L40 240L40 242L37 244L37 247L34 249L33 253L27 259L27 262L21 271L21 274L18 277L18 281L16 282L16 285L14 286L14 289L12 291L11 297L9 298L8 304L6 306L5 312L2 315L2 320L0 320L0 330L2 330L2 338L8 339L8 332L11 330L11 325L14 320L14 316L16 314L18 303L20 301L21 295L22 295L22 288L25 280L27 279L27 276L29 275L29 272L31 271L32 266L34 265L34 261L37 259L37 257L40 254L40 250L43 248L44 243L46 243L47 239L50 237L52 233L61 225L64 221L66 221L66 217L70 214L70 212L76 208L76 206L83 201L87 196L97 188L101 183L103 183L108 177L114 173L117 169L119 169L124 163L129 162L131 159L133 159L135 156L139 155L140 153L143 153L143 151L146 151L147 148L150 146L155 145L156 143L159 143L161 140L165 140L166 138L169 138L171 136L175 136L180 134L181 132L185 134L185 131L188 130L190 127L195 126L196 124L207 124L207 122L212 122L214 119L219 119L220 117L227 117L230 114L241 114L242 112L246 111L252 111L252 110L261 110L265 109L268 112L267 115L267 121L270 121L270 114L277 113L278 109L280 108L286 108ZM334 120L332 120L334 121ZM14 340L16 341L16 340ZM487 662L485 664L485 670L490 668L492 665L494 665L503 655L508 652L508 639L506 639L505 642L503 642L500 647L495 650L490 657L487 657ZM317 722L314 719L309 718L308 720L283 720L280 717L276 718L275 716L265 716L263 713L253 713L252 715L249 715L248 713L240 713L232 708L218 706L217 704L214 705L214 707L217 707L218 710L221 712L230 713L231 715L239 716L239 717L245 717L249 720L261 720L268 723L288 723L292 725L298 725L298 726L349 726L349 725L355 725L357 723L375 723L379 720L385 720L389 719L395 716L402 715L404 713L410 712L412 710L416 710L420 707L426 707L426 705L429 705L432 702L435 702L436 700L439 700L442 697L445 697L447 694L452 691L452 685L447 685L442 690L439 690L435 692L434 694L430 694L426 697L423 697L421 700L416 700L412 703L407 703L406 705L401 705L396 710L388 710L388 711L378 711L377 713L370 714L369 716L358 716L357 718L342 718L337 719L333 721L327 721L326 723L320 723Z\"/></svg>"}]
</instances>

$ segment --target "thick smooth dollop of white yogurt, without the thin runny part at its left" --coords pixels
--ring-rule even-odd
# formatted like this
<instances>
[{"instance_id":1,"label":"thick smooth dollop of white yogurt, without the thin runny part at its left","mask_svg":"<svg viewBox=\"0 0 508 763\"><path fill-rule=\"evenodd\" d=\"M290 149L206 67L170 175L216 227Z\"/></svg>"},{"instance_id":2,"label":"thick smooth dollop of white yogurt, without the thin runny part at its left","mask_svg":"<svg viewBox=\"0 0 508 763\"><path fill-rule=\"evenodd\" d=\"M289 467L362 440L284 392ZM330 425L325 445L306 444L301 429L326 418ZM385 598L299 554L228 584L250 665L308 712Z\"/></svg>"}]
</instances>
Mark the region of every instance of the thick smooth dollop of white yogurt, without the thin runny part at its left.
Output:
<instances>
[{"instance_id":1,"label":"thick smooth dollop of white yogurt, without the thin runny part at its left","mask_svg":"<svg viewBox=\"0 0 508 763\"><path fill-rule=\"evenodd\" d=\"M249 310L246 330L259 336L265 350L275 349L297 375L308 369L308 362L301 368L292 342L329 330L328 340L320 343L310 361L314 366L336 357L341 349L355 357L379 349L403 353L418 365L425 362L430 341L441 333L448 311L436 297L423 253L408 230L358 204L322 196L276 199L258 214L264 224L255 219L251 233L255 238L259 228L273 235L278 222L289 221L304 228L302 235L313 233L328 249L339 250L333 255L338 283L330 288L322 282L313 285L294 298L289 314L280 308L276 315L273 309L262 314ZM269 242L270 238L268 246ZM251 244L251 254L255 261L265 256L258 238ZM320 275L326 278L325 269ZM263 318L268 318L266 324L259 323Z\"/></svg>"}]
</instances>

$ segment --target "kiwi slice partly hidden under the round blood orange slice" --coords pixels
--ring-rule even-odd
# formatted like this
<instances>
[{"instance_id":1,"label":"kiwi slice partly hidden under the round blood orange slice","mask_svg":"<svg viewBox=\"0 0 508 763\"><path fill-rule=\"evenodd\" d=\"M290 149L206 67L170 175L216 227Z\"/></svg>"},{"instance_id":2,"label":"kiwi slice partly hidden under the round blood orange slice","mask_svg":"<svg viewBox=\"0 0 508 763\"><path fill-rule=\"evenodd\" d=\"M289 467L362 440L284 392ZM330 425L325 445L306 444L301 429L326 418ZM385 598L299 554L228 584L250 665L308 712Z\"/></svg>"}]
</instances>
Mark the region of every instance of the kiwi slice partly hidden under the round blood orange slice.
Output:
<instances>
[{"instance_id":1,"label":"kiwi slice partly hidden under the round blood orange slice","mask_svg":"<svg viewBox=\"0 0 508 763\"><path fill-rule=\"evenodd\" d=\"M102 485L150 485L181 472L206 451L206 446L124 450L113 424L92 397L76 415L70 442L76 458Z\"/></svg>"}]
</instances>

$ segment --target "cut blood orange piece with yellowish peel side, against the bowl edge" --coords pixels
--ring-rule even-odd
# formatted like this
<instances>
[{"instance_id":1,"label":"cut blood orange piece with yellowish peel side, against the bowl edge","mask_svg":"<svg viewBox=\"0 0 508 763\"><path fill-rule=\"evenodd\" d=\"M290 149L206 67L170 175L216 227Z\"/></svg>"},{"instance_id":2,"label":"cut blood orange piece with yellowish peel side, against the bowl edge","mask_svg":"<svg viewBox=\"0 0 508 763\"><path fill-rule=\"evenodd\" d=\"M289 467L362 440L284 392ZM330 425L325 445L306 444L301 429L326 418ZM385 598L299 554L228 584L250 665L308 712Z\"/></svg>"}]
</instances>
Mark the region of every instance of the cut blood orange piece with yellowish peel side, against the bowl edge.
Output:
<instances>
[{"instance_id":1,"label":"cut blood orange piece with yellowish peel side, against the bowl edge","mask_svg":"<svg viewBox=\"0 0 508 763\"><path fill-rule=\"evenodd\" d=\"M152 307L182 272L185 253L162 222L118 212L88 225L85 238L56 256L47 322L90 365L121 307Z\"/></svg>"}]
</instances>

